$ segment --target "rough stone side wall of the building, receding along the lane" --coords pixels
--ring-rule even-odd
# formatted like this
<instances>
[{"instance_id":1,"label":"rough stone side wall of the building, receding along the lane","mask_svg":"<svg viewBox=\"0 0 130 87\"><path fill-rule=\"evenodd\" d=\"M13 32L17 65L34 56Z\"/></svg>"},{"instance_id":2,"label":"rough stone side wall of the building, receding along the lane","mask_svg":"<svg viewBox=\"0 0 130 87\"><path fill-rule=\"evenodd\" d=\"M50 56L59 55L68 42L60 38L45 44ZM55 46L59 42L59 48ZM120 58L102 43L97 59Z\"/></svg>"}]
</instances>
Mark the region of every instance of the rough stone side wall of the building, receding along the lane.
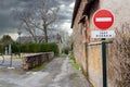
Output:
<instances>
[{"instance_id":1,"label":"rough stone side wall of the building, receding along the lane","mask_svg":"<svg viewBox=\"0 0 130 87\"><path fill-rule=\"evenodd\" d=\"M86 5L86 0L81 2L81 5L78 10L78 14L76 15L75 23L74 23L74 55L76 59L76 62L79 64L79 66L84 70L87 73L87 59L86 59L86 37L84 32L86 27L82 26L81 23L79 23L80 18L82 17L82 11Z\"/></svg>"}]
</instances>

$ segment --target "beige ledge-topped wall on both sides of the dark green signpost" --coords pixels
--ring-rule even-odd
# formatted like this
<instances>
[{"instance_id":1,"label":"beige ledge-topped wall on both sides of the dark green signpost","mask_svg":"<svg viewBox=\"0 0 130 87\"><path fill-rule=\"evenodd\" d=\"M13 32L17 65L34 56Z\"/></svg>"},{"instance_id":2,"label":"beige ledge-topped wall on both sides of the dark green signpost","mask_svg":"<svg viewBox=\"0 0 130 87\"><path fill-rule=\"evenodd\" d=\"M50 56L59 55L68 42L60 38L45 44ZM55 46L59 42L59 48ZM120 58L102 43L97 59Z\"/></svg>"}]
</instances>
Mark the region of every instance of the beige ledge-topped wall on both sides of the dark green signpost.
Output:
<instances>
[{"instance_id":1,"label":"beige ledge-topped wall on both sides of the dark green signpost","mask_svg":"<svg viewBox=\"0 0 130 87\"><path fill-rule=\"evenodd\" d=\"M118 71L114 66L112 51L113 42L106 42L106 66L107 66L107 86L115 87L118 79ZM88 78L94 87L102 87L103 85L103 70L102 70L102 42L88 44Z\"/></svg>"}]
</instances>

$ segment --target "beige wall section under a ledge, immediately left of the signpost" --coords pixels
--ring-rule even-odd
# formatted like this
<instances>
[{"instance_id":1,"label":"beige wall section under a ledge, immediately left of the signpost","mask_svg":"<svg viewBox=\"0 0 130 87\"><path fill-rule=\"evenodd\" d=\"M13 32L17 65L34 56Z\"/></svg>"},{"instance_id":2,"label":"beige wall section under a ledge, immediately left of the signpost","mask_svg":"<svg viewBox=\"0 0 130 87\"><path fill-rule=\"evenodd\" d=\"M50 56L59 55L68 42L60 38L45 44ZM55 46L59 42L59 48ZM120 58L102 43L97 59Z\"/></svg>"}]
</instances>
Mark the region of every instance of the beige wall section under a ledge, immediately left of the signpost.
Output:
<instances>
[{"instance_id":1,"label":"beige wall section under a ledge, immediately left of the signpost","mask_svg":"<svg viewBox=\"0 0 130 87\"><path fill-rule=\"evenodd\" d=\"M94 87L102 87L102 47L101 42L88 45L88 78Z\"/></svg>"}]
</instances>

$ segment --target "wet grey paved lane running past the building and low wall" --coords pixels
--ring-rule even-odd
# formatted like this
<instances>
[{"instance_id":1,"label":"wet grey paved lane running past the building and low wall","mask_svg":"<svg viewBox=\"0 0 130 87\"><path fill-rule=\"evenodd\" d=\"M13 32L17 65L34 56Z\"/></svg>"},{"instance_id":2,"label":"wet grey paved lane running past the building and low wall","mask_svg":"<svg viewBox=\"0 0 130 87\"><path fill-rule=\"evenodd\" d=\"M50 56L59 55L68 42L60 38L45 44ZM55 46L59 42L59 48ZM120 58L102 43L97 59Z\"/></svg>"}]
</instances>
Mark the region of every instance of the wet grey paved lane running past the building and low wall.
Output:
<instances>
[{"instance_id":1,"label":"wet grey paved lane running past the building and low wall","mask_svg":"<svg viewBox=\"0 0 130 87\"><path fill-rule=\"evenodd\" d=\"M42 71L26 72L0 69L0 87L91 87L72 66L67 57L52 60Z\"/></svg>"}]
</instances>

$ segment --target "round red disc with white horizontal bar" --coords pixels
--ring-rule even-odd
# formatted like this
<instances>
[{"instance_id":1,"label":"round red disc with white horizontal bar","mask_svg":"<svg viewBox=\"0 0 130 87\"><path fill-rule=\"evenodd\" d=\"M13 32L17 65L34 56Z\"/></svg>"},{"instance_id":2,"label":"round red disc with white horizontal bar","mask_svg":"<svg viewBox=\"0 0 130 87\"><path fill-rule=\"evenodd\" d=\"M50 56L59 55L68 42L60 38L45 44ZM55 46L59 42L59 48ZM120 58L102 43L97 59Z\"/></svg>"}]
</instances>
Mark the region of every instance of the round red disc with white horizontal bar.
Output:
<instances>
[{"instance_id":1,"label":"round red disc with white horizontal bar","mask_svg":"<svg viewBox=\"0 0 130 87\"><path fill-rule=\"evenodd\" d=\"M106 30L113 25L114 15L108 10L99 10L94 13L93 23L98 28Z\"/></svg>"}]
</instances>

